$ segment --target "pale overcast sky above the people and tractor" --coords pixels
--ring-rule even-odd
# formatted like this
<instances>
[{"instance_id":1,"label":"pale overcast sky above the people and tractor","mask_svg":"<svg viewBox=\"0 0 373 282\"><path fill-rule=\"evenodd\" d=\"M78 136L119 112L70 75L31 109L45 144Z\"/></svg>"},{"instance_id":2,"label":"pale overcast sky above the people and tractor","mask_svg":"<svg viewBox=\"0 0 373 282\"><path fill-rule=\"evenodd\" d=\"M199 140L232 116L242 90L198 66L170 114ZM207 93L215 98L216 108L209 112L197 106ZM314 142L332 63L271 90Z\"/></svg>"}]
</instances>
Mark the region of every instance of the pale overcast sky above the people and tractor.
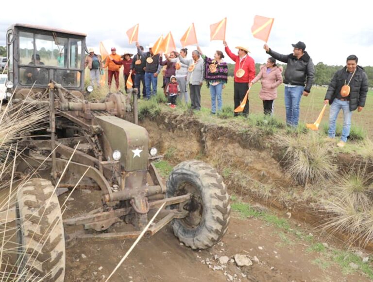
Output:
<instances>
[{"instance_id":1,"label":"pale overcast sky above the people and tractor","mask_svg":"<svg viewBox=\"0 0 373 282\"><path fill-rule=\"evenodd\" d=\"M313 62L344 65L350 54L359 58L359 65L373 66L372 4L368 0L302 1L117 1L107 5L103 1L57 2L34 0L2 3L0 17L0 45L6 44L7 28L14 23L27 23L67 29L87 34L86 45L99 52L102 41L107 50L116 47L136 53L135 43L128 42L126 31L139 24L139 43L144 47L160 35L172 33L176 47L192 22L195 24L199 46L204 54L213 57L215 50L224 50L222 41L210 41L210 24L227 18L226 41L235 47L247 46L257 63L269 57L263 49L264 41L251 34L254 16L274 18L268 45L272 50L292 53L292 43L303 41ZM88 4L91 3L91 4ZM20 8L22 7L22 8ZM9 12L8 12L9 11ZM187 46L189 57L196 46ZM228 63L232 60L225 56Z\"/></svg>"}]
</instances>

